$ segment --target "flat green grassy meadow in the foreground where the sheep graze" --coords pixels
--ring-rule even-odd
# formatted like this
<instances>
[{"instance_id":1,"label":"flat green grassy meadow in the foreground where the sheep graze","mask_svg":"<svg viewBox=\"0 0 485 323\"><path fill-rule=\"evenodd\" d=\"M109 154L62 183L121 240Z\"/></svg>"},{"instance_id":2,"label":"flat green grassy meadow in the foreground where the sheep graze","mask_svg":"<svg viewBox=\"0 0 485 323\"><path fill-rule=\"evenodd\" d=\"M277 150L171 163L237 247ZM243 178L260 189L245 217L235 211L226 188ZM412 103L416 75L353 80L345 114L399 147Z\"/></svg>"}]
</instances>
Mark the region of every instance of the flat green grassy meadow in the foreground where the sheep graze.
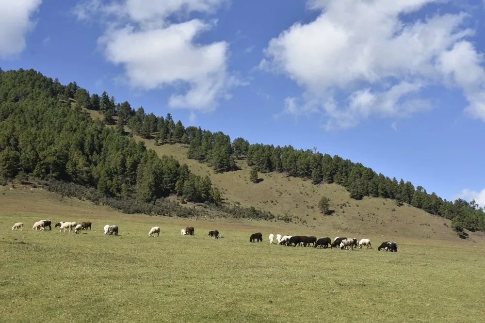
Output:
<instances>
[{"instance_id":1,"label":"flat green grassy meadow in the foreground where the sheep graze","mask_svg":"<svg viewBox=\"0 0 485 323\"><path fill-rule=\"evenodd\" d=\"M91 221L81 234L35 221ZM11 231L15 222L23 231ZM119 236L104 236L117 224ZM160 237L148 238L152 226ZM180 229L194 226L194 236ZM223 239L207 236L218 229ZM250 243L262 232L264 242ZM485 243L393 238L399 253L270 245L333 228L121 214L28 187L0 194L0 321L483 321ZM363 238L356 235L356 238Z\"/></svg>"}]
</instances>

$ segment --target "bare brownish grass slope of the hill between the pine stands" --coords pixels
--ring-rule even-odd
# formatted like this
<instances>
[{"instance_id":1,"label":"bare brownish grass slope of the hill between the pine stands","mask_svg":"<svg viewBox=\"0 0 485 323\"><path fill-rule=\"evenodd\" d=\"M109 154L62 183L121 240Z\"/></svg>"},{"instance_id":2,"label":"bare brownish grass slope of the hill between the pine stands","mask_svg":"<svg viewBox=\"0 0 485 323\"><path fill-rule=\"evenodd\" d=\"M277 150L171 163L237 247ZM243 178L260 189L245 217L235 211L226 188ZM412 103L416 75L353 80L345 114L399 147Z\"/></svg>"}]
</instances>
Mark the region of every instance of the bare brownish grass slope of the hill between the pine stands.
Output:
<instances>
[{"instance_id":1,"label":"bare brownish grass slope of the hill between the pine stands","mask_svg":"<svg viewBox=\"0 0 485 323\"><path fill-rule=\"evenodd\" d=\"M102 119L97 111L84 109L92 118ZM125 127L130 133L130 129ZM317 230L341 232L343 235L372 235L386 237L426 238L456 240L451 221L432 215L409 204L397 206L395 201L380 197L365 196L354 200L339 184L314 185L310 180L287 177L281 173L259 173L259 183L249 180L250 167L245 160L238 160L239 170L215 173L208 164L189 159L188 145L156 145L154 140L133 135L143 141L148 149L159 156L175 157L186 163L194 174L209 176L212 183L221 189L228 204L255 207L275 214L297 216L305 226ZM262 179L262 180L261 180ZM331 200L331 215L323 215L317 208L322 196ZM466 230L471 241L483 239L482 232Z\"/></svg>"}]
</instances>

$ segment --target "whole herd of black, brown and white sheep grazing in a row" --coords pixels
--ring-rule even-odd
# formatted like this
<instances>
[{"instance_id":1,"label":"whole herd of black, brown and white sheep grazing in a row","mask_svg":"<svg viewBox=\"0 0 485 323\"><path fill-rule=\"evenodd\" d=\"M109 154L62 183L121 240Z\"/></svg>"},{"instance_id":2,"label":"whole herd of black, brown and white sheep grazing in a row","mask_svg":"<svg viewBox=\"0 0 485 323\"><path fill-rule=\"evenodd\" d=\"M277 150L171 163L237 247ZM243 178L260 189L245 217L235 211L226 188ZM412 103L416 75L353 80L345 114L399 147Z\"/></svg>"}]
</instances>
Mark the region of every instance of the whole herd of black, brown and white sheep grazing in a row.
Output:
<instances>
[{"instance_id":1,"label":"whole herd of black, brown and white sheep grazing in a row","mask_svg":"<svg viewBox=\"0 0 485 323\"><path fill-rule=\"evenodd\" d=\"M37 221L33 224L32 230L51 230L52 222L50 220L40 220ZM74 233L80 233L81 230L91 230L92 223L91 222L81 222L80 224L76 222L58 222L54 227L59 227L59 232L74 232ZM22 222L17 222L12 226L12 230L23 230L24 224ZM110 226L106 225L103 227L104 235L118 235L118 226ZM185 229L181 229L181 234L182 235L194 235L194 227L193 226L187 226ZM154 226L150 229L148 232L148 237L153 237L155 234L157 234L157 237L160 236L160 226ZM219 236L219 231L218 230L211 230L209 231L208 234L209 237L214 237L215 239L219 238L224 238ZM269 235L269 242L270 244L273 244L275 241L275 235L271 233ZM249 242L262 242L263 241L263 235L261 232L253 233L249 237ZM319 238L315 236L282 236L281 234L276 234L276 243L279 245L286 245L286 246L311 246L314 248L320 247L320 248L340 248L340 249L348 249L348 250L354 250L354 248L359 248L362 249L363 246L366 246L367 249L371 247L372 249L372 244L370 239L361 239L360 241L357 241L356 238L340 238L336 237L334 241L332 242L330 238ZM399 252L397 243L393 241L385 241L382 242L381 245L377 248L378 251L390 251L390 252Z\"/></svg>"}]
</instances>

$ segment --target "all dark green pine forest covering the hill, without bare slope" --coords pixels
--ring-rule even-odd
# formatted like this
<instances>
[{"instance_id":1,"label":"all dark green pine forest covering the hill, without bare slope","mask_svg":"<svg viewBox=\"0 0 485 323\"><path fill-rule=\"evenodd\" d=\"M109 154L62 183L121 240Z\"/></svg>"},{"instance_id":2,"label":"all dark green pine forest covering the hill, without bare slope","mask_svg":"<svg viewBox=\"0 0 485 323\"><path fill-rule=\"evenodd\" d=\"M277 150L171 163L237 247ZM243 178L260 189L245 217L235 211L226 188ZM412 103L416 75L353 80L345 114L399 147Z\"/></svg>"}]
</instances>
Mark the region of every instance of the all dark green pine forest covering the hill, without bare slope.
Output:
<instances>
[{"instance_id":1,"label":"all dark green pine forest covering the hill, without bare slope","mask_svg":"<svg viewBox=\"0 0 485 323\"><path fill-rule=\"evenodd\" d=\"M222 132L186 128L170 114L157 117L142 107L135 110L129 102L116 103L106 92L90 96L75 82L63 86L32 70L0 72L0 81L0 178L55 178L94 187L115 198L148 202L177 194L188 201L221 203L221 193L208 176L194 175L175 158L159 157L142 141L137 144L124 133L128 127L155 145L187 145L186 156L208 164L215 173L237 170L245 162L255 182L258 172L276 172L315 185L335 183L355 200L389 198L396 207L406 203L450 219L459 233L464 228L485 231L484 212L475 201L446 201L421 186L377 174L339 156L250 144L243 138L231 143ZM75 109L70 108L69 98L74 98ZM81 108L98 111L102 122L92 120Z\"/></svg>"}]
</instances>

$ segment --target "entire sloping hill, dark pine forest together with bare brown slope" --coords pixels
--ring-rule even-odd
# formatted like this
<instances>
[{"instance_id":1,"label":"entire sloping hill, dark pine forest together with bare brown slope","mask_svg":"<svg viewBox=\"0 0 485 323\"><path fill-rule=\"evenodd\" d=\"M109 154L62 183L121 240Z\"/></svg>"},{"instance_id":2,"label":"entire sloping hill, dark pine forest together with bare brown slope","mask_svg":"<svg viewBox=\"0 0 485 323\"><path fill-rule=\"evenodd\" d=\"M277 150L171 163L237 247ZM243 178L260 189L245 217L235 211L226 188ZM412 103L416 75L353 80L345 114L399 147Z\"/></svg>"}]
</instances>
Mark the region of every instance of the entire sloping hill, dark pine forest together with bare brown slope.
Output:
<instances>
[{"instance_id":1,"label":"entire sloping hill, dark pine forest together with bare brown slope","mask_svg":"<svg viewBox=\"0 0 485 323\"><path fill-rule=\"evenodd\" d=\"M170 117L167 120L170 123L169 127L173 127L173 137L178 138L176 132L179 130L179 139L184 135L186 139L178 141L190 142L191 145L174 143L174 140L169 140L171 144L157 145L157 142L163 140L145 138L153 135L153 129L165 131L166 120L153 114L145 114L143 109L135 112L128 102L115 107L114 98L110 99L106 92L97 97L98 105L109 107L104 109L104 115L101 115L96 109L85 108L97 95L90 98L87 91L75 83L64 86L33 70L1 72L0 76L3 80L0 87L0 123L4 130L0 132L0 147L3 147L0 155L0 178L3 178L4 182L5 178L28 176L55 179L90 188L97 191L97 194L125 200L126 203L141 201L156 204L157 201L168 197L179 202L189 201L189 207L194 206L194 203L206 201L214 206L220 205L222 195L226 206L252 207L282 215L282 218L291 217L294 223L318 229L320 232L323 229L342 235L365 234L382 238L405 236L420 239L458 239L451 228L451 221L425 212L424 203L423 207L418 209L406 203L396 203L395 199L371 197L370 186L365 187L363 192L354 192L352 187L358 191L358 185L362 184L364 179L371 183L374 179L370 178L377 177L372 169L361 164L334 157L337 164L331 161L325 165L340 167L332 170L334 181L343 182L345 186L343 183L339 185L330 180L322 180L319 185L314 185L308 179L308 174L312 173L308 172L311 163L307 162L306 168L296 169L300 161L297 158L316 157L322 158L323 162L327 156L312 156L311 152L298 151L297 154L301 153L298 157L290 151L290 154L293 154L290 167L294 165L294 170L285 165L285 162L289 161L283 160L285 156L278 158L281 158L283 167L287 167L285 173L291 176L286 175L280 168L279 172L260 173L258 183L254 183L250 181L249 162L235 160L238 167L234 167L234 160L229 156L232 149L230 138L221 132L211 134L210 131L204 132L195 127L185 129L180 122L175 125ZM70 99L66 100L66 97ZM76 97L76 100L71 97ZM81 109L87 113L81 113ZM125 120L116 126L103 124L101 121L106 117L113 118L114 110L110 112L110 109L119 111L118 115L123 116ZM94 121L96 119L98 120ZM114 116L113 123L119 120ZM123 123L130 125L130 128L123 128ZM135 131L130 134L132 129L137 129L136 133L144 133L145 138L135 135ZM163 131L158 132L157 136L168 133ZM211 165L188 158L188 152L191 147L194 148L192 144L196 141L196 158L210 161L207 156L212 156ZM140 145L140 142L144 145ZM249 152L250 150L248 156ZM285 152L282 153L284 154ZM206 157L200 158L203 155ZM222 168L215 168L214 156L223 157L217 160L222 161L219 163ZM331 159L330 156L328 158ZM315 167L319 165L317 163ZM322 167L325 165L322 164ZM272 166L268 169L274 168ZM227 171L228 169L232 170ZM301 171L305 173L299 173ZM322 169L320 176L324 172L326 170ZM313 178L313 174L311 177ZM335 180L338 177L346 179ZM397 186L385 186L392 185L393 182L384 176L382 178L383 182L378 183L379 192L374 196L397 196L397 190L401 190L401 187L395 190ZM407 184L406 187L402 187L407 189ZM429 201L435 198L435 202L440 204L435 203L434 206L441 205L444 209L435 208L433 214L443 214L452 208L452 216L448 217L449 219L454 216L453 221L458 218L474 227L484 225L481 211L472 209L466 202L456 206L446 201L443 203L436 195L421 192L420 187L414 191L414 186L409 184L411 194L414 192L412 202L409 191L405 193L405 200L409 203L417 205L414 201L416 196ZM388 190L390 194L381 194L381 188ZM351 198L351 194L356 197L355 193L360 194L361 199ZM317 210L318 201L322 196L328 197L331 201L330 215L323 215ZM140 211L142 209L135 210ZM215 213L212 215L225 216L221 209ZM478 221L474 222L477 220L477 214ZM478 231L466 233L472 241L482 236Z\"/></svg>"}]
</instances>

